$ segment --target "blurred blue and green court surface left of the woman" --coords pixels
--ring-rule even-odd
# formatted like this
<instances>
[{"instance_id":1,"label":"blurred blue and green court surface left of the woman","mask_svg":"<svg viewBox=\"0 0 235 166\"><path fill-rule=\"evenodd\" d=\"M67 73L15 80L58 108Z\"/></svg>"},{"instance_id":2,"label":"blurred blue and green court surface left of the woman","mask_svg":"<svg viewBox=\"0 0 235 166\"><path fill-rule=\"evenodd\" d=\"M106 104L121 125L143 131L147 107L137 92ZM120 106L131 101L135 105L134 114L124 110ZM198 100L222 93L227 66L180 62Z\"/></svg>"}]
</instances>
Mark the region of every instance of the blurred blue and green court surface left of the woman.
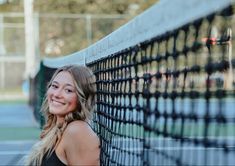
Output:
<instances>
[{"instance_id":1,"label":"blurred blue and green court surface left of the woman","mask_svg":"<svg viewBox=\"0 0 235 166\"><path fill-rule=\"evenodd\" d=\"M0 165L22 165L40 128L27 103L0 103Z\"/></svg>"}]
</instances>

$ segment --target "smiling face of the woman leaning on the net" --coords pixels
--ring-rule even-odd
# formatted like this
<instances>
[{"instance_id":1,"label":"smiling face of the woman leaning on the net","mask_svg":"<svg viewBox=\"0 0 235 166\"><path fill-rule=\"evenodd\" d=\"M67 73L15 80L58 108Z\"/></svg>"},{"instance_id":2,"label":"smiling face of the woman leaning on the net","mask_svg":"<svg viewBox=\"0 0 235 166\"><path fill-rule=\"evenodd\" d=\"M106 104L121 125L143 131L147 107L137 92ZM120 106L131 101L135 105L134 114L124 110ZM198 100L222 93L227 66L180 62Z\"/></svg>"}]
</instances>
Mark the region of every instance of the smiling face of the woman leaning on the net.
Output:
<instances>
[{"instance_id":1,"label":"smiling face of the woman leaning on the net","mask_svg":"<svg viewBox=\"0 0 235 166\"><path fill-rule=\"evenodd\" d=\"M47 91L49 112L64 118L66 114L77 108L78 97L71 74L67 71L59 72Z\"/></svg>"}]
</instances>

